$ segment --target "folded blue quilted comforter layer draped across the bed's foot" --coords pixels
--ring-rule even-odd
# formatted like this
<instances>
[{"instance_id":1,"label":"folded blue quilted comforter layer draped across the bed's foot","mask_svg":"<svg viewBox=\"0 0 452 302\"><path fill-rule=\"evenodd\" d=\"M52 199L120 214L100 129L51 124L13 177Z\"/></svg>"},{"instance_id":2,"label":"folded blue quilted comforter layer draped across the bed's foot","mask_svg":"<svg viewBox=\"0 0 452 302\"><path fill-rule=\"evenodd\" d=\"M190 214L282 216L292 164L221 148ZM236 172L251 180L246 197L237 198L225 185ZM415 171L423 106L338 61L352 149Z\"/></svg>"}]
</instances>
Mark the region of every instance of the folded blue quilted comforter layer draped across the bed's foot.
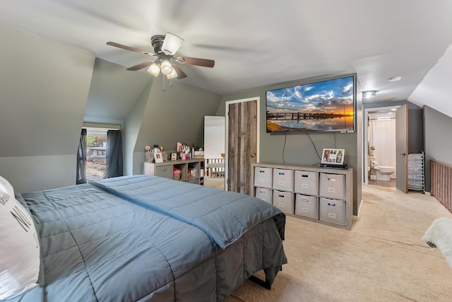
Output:
<instances>
[{"instance_id":1,"label":"folded blue quilted comforter layer draped across the bed's foot","mask_svg":"<svg viewBox=\"0 0 452 302\"><path fill-rule=\"evenodd\" d=\"M220 248L227 248L261 221L273 216L284 219L280 209L260 199L167 178L137 175L93 184L142 207L201 228ZM281 231L283 238L284 229Z\"/></svg>"}]
</instances>

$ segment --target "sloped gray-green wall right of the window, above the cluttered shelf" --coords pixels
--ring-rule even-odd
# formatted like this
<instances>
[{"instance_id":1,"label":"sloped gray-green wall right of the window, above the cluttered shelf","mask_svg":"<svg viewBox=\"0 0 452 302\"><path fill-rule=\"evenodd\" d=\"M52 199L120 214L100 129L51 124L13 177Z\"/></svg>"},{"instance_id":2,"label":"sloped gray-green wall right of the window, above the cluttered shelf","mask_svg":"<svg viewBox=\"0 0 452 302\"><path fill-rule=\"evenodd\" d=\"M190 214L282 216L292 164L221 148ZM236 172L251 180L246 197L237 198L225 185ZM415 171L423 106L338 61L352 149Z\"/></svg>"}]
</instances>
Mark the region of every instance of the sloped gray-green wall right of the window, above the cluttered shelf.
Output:
<instances>
[{"instance_id":1,"label":"sloped gray-green wall right of the window, above the cluttered shelf","mask_svg":"<svg viewBox=\"0 0 452 302\"><path fill-rule=\"evenodd\" d=\"M126 118L126 175L143 173L146 145L157 144L171 152L175 151L177 141L190 146L204 144L204 116L215 114L222 95L182 81L173 81L171 87L165 82L165 91L162 76L148 84Z\"/></svg>"}]
</instances>

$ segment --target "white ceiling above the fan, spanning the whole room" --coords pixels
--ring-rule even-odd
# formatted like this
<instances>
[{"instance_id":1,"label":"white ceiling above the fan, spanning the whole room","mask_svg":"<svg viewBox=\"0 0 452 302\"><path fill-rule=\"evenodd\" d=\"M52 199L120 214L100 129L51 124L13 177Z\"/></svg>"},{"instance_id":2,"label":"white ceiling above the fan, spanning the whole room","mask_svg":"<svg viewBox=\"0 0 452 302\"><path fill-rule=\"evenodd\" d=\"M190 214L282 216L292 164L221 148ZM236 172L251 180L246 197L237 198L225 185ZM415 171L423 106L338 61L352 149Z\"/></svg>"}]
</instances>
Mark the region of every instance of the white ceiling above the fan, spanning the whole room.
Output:
<instances>
[{"instance_id":1,"label":"white ceiling above the fan, spanning the whole room","mask_svg":"<svg viewBox=\"0 0 452 302\"><path fill-rule=\"evenodd\" d=\"M182 65L188 77L177 81L216 93L356 72L363 91L379 91L372 102L412 100L450 116L451 16L450 0L0 1L0 23L124 69L150 57L106 42L153 52L152 35L179 35L177 55L215 59L215 67Z\"/></svg>"}]
</instances>

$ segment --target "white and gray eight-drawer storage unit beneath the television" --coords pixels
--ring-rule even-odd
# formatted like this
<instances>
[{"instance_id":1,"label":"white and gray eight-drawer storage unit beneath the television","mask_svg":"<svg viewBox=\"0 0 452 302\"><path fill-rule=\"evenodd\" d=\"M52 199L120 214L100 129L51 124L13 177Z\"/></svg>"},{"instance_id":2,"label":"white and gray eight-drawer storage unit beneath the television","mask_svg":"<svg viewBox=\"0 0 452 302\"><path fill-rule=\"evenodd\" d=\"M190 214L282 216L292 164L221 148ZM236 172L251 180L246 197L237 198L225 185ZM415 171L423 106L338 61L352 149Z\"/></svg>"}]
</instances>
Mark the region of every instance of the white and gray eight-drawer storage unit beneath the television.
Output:
<instances>
[{"instance_id":1,"label":"white and gray eight-drawer storage unit beneath the television","mask_svg":"<svg viewBox=\"0 0 452 302\"><path fill-rule=\"evenodd\" d=\"M352 168L254 163L255 197L288 216L350 230L353 216Z\"/></svg>"}]
</instances>

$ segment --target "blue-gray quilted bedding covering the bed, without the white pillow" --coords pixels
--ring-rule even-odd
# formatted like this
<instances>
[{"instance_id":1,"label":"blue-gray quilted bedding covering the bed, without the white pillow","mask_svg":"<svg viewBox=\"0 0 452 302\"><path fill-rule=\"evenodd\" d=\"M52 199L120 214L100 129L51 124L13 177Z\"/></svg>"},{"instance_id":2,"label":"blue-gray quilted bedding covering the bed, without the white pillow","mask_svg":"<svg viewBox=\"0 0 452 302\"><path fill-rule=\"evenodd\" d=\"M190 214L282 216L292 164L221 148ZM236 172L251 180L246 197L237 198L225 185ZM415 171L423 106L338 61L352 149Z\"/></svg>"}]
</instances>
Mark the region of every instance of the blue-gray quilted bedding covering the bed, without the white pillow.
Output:
<instances>
[{"instance_id":1,"label":"blue-gray quilted bedding covering the bed, without the white pillow","mask_svg":"<svg viewBox=\"0 0 452 302\"><path fill-rule=\"evenodd\" d=\"M285 215L244 194L133 175L15 197L40 258L8 302L222 301L261 270L270 286L287 263Z\"/></svg>"}]
</instances>

